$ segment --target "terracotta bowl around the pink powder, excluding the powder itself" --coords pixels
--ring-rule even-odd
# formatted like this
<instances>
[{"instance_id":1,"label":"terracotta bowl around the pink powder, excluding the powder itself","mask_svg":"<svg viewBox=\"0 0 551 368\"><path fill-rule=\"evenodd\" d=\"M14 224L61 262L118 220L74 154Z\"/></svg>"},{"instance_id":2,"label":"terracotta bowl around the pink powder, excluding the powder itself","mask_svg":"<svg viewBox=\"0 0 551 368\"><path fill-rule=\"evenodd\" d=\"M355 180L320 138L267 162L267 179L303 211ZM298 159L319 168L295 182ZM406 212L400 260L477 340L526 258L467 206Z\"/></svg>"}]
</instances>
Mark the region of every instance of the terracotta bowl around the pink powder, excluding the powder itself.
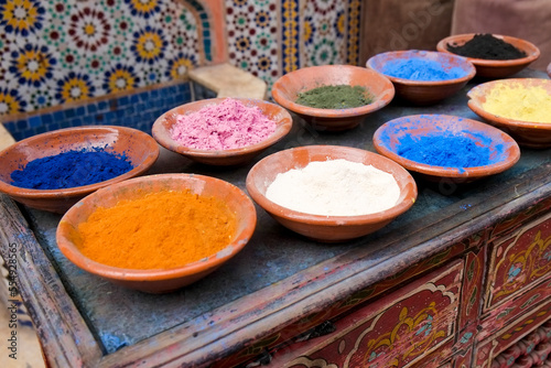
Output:
<instances>
[{"instance_id":1,"label":"terracotta bowl around the pink powder, excluding the powder itself","mask_svg":"<svg viewBox=\"0 0 551 368\"><path fill-rule=\"evenodd\" d=\"M225 98L210 98L203 99L194 102L188 102L173 108L161 115L153 123L152 134L153 138L165 149L180 153L195 162L201 162L208 165L239 165L250 162L256 155L268 149L270 145L279 142L285 137L293 126L291 115L281 106L271 104L264 100L250 99L250 98L234 98L246 106L257 106L263 115L271 120L276 121L276 131L266 140L247 145L240 149L224 150L224 151L208 151L197 150L190 147L184 147L171 138L172 126L175 125L179 115L195 112L202 108L215 104L220 104Z\"/></svg>"}]
</instances>

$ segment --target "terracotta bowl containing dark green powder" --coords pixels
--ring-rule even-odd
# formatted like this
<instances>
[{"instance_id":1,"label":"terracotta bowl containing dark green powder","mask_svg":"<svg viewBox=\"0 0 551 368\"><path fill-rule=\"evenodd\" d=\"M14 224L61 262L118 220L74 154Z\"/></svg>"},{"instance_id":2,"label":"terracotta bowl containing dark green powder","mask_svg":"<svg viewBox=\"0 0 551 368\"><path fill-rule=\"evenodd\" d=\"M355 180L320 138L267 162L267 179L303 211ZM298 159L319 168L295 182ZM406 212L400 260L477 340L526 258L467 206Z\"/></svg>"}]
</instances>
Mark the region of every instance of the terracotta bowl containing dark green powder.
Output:
<instances>
[{"instance_id":1,"label":"terracotta bowl containing dark green powder","mask_svg":"<svg viewBox=\"0 0 551 368\"><path fill-rule=\"evenodd\" d=\"M347 130L395 97L385 76L352 65L321 65L285 74L272 87L273 99L321 131Z\"/></svg>"}]
</instances>

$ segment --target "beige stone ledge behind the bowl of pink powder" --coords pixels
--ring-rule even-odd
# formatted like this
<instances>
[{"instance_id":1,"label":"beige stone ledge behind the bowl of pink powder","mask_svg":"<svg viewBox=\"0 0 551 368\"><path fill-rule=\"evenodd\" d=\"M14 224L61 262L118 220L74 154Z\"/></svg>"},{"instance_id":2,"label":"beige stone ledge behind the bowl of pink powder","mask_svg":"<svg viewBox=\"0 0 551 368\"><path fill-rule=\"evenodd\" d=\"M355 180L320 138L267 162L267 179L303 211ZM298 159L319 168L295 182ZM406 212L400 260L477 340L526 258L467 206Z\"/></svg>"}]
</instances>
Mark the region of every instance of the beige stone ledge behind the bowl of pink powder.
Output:
<instances>
[{"instance_id":1,"label":"beige stone ledge behind the bowl of pink powder","mask_svg":"<svg viewBox=\"0 0 551 368\"><path fill-rule=\"evenodd\" d=\"M217 97L267 98L264 80L227 63L191 69L188 76L193 83L214 90Z\"/></svg>"}]
</instances>

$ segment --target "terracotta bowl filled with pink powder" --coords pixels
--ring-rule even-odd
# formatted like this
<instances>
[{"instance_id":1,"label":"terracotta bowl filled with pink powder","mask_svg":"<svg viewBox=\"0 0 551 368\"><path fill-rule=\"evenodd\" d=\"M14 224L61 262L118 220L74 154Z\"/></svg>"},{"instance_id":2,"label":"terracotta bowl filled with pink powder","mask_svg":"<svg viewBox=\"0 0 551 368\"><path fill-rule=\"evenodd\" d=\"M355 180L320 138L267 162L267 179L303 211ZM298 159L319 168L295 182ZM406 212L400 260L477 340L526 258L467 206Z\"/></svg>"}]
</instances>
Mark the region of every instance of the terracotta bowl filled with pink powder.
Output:
<instances>
[{"instance_id":1,"label":"terracotta bowl filled with pink powder","mask_svg":"<svg viewBox=\"0 0 551 368\"><path fill-rule=\"evenodd\" d=\"M212 98L179 106L153 123L153 138L165 149L209 165L252 160L291 130L282 107L248 98Z\"/></svg>"}]
</instances>

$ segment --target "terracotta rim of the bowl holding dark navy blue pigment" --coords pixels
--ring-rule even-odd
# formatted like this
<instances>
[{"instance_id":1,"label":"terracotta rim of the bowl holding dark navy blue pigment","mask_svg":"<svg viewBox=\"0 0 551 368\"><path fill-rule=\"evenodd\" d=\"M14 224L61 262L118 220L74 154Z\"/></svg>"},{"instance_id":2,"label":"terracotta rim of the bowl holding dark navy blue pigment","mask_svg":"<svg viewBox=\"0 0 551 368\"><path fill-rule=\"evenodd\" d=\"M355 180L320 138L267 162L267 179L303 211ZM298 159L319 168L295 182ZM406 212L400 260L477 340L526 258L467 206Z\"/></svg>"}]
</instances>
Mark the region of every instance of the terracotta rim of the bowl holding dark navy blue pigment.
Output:
<instances>
[{"instance_id":1,"label":"terracotta rim of the bowl holding dark navy blue pigment","mask_svg":"<svg viewBox=\"0 0 551 368\"><path fill-rule=\"evenodd\" d=\"M19 148L21 144L28 144L32 143L34 141L42 141L44 138L47 137L54 137L58 136L60 133L62 134L69 134L72 132L99 132L99 131L110 131L110 132L118 132L118 133L123 133L123 134L134 134L138 137L138 140L141 142L144 142L148 150L148 155L145 160L138 166L134 166L132 170L127 171L126 173L122 173L118 176L115 176L112 178L109 178L104 182L99 183L94 183L94 184L88 184L88 185L83 185L83 186L74 186L69 188L61 188L61 190L32 190L32 188L24 188L20 186L14 186L9 183L6 183L4 181L0 180L0 192L3 192L10 196L17 196L21 198L60 198L60 197L72 197L72 196L80 196L85 195L88 193L91 193L98 188L125 181L130 177L134 177L138 175L143 174L147 172L156 161L160 154L159 145L156 144L156 141L149 136L148 133L134 129L134 128L129 128L129 127L119 127L119 126L83 126L83 127L73 127L73 128L64 128L64 129L57 129L57 130L52 130L47 131L44 133L40 133L36 136L32 136L29 138L25 138L21 141L15 142L14 144L6 148L4 150L0 151L0 159L7 154L8 152Z\"/></svg>"}]
</instances>

